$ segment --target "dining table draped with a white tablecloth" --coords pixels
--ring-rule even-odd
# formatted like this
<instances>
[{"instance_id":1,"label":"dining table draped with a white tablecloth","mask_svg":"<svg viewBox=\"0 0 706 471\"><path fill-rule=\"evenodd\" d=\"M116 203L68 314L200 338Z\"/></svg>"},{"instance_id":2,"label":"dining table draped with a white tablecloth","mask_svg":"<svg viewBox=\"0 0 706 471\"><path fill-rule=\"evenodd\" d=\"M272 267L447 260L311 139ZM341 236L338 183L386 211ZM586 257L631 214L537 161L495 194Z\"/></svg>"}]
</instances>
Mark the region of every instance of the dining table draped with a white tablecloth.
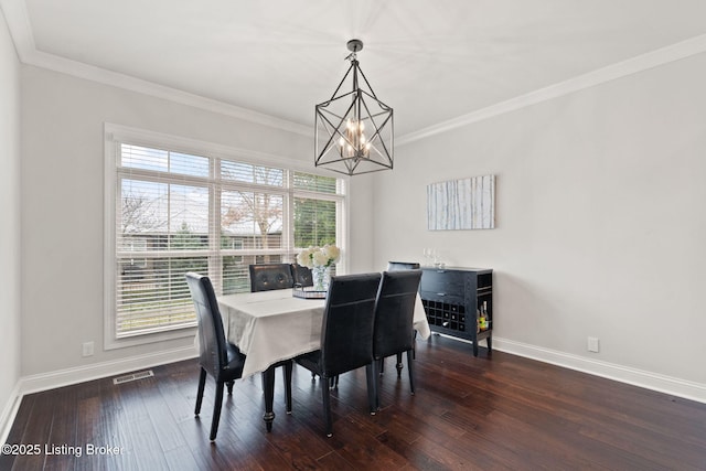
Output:
<instances>
[{"instance_id":1,"label":"dining table draped with a white tablecloth","mask_svg":"<svg viewBox=\"0 0 706 471\"><path fill-rule=\"evenodd\" d=\"M217 298L226 339L245 354L243 377L263 375L263 418L268 431L275 419L276 366L321 346L325 299L295 295L295 289L277 289ZM421 339L431 334L419 295L415 301L414 329Z\"/></svg>"}]
</instances>

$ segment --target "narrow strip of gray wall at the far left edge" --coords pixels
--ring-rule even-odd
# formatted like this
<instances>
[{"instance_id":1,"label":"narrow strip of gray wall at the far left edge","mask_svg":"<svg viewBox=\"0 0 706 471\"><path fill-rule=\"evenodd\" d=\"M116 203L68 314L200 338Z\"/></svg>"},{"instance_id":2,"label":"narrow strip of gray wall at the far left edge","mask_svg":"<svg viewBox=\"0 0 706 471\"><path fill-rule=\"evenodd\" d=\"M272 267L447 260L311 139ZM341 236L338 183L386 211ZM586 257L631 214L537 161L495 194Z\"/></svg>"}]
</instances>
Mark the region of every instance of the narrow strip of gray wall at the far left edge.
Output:
<instances>
[{"instance_id":1,"label":"narrow strip of gray wall at the far left edge","mask_svg":"<svg viewBox=\"0 0 706 471\"><path fill-rule=\"evenodd\" d=\"M20 378L20 63L0 10L0 427Z\"/></svg>"}]
</instances>

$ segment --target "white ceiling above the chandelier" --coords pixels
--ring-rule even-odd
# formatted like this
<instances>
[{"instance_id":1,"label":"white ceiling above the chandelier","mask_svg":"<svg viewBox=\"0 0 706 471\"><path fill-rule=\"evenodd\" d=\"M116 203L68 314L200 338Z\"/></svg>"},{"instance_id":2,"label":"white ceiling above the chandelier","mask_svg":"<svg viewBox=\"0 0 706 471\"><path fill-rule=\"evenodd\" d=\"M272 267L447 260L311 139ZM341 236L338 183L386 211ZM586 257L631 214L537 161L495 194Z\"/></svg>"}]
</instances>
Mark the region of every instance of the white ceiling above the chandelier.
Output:
<instances>
[{"instance_id":1,"label":"white ceiling above the chandelier","mask_svg":"<svg viewBox=\"0 0 706 471\"><path fill-rule=\"evenodd\" d=\"M307 127L313 126L314 104L331 96L346 71L347 40L361 39L361 67L395 109L402 136L664 47L677 51L675 57L680 44L687 45L685 55L706 49L704 0L0 0L0 6L22 62L82 69L78 75L97 79L110 76L113 83L126 75L126 83L139 78Z\"/></svg>"}]
</instances>

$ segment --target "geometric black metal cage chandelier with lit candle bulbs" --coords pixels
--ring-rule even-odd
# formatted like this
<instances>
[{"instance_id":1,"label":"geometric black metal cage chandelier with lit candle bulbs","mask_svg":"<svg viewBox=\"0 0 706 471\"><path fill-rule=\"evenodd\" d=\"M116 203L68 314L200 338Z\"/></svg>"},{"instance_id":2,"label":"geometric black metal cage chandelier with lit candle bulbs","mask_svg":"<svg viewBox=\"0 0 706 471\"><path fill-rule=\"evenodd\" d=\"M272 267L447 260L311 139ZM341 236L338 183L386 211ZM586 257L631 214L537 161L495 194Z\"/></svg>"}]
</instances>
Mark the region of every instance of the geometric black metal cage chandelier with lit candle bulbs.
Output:
<instances>
[{"instance_id":1,"label":"geometric black metal cage chandelier with lit candle bulbs","mask_svg":"<svg viewBox=\"0 0 706 471\"><path fill-rule=\"evenodd\" d=\"M314 164L346 175L393 168L393 109L361 71L363 42L347 42L351 66L331 98L315 106ZM347 82L347 86L344 86Z\"/></svg>"}]
</instances>

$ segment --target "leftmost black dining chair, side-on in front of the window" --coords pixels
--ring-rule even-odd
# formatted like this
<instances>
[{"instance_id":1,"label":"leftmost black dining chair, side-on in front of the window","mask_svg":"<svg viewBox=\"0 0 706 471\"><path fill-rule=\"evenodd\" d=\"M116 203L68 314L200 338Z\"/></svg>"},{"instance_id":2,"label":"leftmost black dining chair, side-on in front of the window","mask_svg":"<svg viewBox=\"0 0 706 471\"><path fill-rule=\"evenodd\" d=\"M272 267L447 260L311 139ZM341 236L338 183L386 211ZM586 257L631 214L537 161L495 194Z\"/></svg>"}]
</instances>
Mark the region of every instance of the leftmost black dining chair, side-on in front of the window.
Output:
<instances>
[{"instance_id":1,"label":"leftmost black dining chair, side-on in front of the window","mask_svg":"<svg viewBox=\"0 0 706 471\"><path fill-rule=\"evenodd\" d=\"M228 394L233 394L235 379L243 376L245 355L237 346L226 342L223 331L223 320L216 296L208 277L195 274L186 274L186 283L191 291L191 298L196 309L199 323L199 392L196 393L196 408L194 414L199 417L201 402L206 385L206 374L216 381L216 397L213 404L213 418L211 419L211 441L215 441L223 405L223 386L227 384Z\"/></svg>"}]
</instances>

